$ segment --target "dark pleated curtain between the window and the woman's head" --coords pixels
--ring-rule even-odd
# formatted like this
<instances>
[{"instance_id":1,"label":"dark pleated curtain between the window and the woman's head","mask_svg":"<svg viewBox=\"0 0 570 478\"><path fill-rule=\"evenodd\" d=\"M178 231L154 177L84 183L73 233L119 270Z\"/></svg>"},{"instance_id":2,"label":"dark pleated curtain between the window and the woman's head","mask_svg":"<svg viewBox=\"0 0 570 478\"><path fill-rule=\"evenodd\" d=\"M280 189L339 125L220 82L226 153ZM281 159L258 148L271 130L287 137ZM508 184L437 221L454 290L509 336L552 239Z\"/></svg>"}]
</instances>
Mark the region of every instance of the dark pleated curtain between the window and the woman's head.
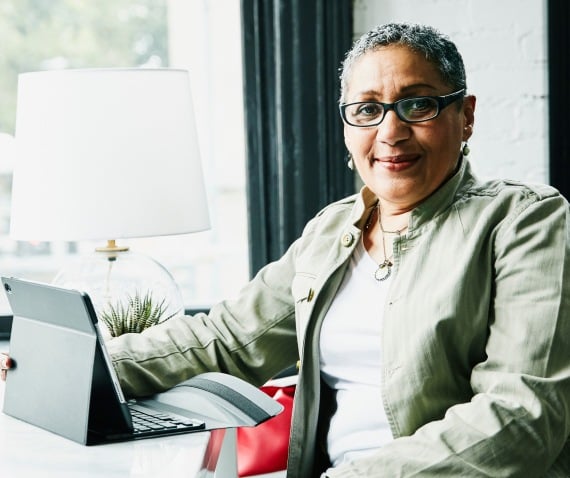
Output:
<instances>
[{"instance_id":1,"label":"dark pleated curtain between the window and the woman's head","mask_svg":"<svg viewBox=\"0 0 570 478\"><path fill-rule=\"evenodd\" d=\"M242 0L250 273L354 192L338 114L352 1Z\"/></svg>"}]
</instances>

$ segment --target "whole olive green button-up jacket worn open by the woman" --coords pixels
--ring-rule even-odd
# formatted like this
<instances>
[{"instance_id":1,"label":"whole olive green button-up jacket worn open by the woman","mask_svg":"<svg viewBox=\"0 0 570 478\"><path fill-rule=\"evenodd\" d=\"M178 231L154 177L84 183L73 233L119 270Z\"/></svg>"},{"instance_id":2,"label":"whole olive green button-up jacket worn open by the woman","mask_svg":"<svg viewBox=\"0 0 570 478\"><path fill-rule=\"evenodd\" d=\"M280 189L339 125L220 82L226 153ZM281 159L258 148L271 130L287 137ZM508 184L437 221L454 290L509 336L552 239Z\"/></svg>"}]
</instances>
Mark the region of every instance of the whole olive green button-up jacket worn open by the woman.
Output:
<instances>
[{"instance_id":1,"label":"whole olive green button-up jacket worn open by the woman","mask_svg":"<svg viewBox=\"0 0 570 478\"><path fill-rule=\"evenodd\" d=\"M288 477L318 476L319 330L375 201L365 188L325 208L208 316L113 339L125 392L212 369L262 384L299 357ZM480 182L463 161L412 211L394 263L378 380L395 439L328 476L570 476L565 199L548 186Z\"/></svg>"}]
</instances>

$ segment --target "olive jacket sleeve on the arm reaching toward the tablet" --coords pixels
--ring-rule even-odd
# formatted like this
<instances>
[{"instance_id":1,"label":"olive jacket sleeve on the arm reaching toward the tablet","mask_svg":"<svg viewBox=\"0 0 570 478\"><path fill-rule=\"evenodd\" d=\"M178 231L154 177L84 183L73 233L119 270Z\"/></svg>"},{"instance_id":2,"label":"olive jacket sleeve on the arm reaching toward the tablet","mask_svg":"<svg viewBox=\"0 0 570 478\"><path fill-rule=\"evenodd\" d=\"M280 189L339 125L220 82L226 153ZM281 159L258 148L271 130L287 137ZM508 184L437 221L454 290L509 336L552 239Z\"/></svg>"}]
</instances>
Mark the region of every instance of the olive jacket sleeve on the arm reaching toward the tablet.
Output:
<instances>
[{"instance_id":1,"label":"olive jacket sleeve on the arm reaching toward the tablet","mask_svg":"<svg viewBox=\"0 0 570 478\"><path fill-rule=\"evenodd\" d=\"M172 318L140 334L109 340L124 393L153 394L208 371L261 385L294 364L293 255L294 247L259 271L235 300L213 306L207 315Z\"/></svg>"}]
</instances>

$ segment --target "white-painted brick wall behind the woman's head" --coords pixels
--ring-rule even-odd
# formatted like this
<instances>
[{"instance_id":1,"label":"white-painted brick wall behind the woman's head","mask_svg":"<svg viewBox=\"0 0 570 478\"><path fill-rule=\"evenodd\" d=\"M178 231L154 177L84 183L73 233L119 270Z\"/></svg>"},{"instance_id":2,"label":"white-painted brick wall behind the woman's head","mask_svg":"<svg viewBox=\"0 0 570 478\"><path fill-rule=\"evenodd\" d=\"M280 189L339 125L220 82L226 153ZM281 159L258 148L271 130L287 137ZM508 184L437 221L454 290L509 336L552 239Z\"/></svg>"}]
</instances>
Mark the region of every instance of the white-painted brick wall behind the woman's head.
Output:
<instances>
[{"instance_id":1,"label":"white-painted brick wall behind the woman's head","mask_svg":"<svg viewBox=\"0 0 570 478\"><path fill-rule=\"evenodd\" d=\"M547 182L546 0L355 1L355 36L389 21L430 24L459 48L477 96L476 172Z\"/></svg>"}]
</instances>

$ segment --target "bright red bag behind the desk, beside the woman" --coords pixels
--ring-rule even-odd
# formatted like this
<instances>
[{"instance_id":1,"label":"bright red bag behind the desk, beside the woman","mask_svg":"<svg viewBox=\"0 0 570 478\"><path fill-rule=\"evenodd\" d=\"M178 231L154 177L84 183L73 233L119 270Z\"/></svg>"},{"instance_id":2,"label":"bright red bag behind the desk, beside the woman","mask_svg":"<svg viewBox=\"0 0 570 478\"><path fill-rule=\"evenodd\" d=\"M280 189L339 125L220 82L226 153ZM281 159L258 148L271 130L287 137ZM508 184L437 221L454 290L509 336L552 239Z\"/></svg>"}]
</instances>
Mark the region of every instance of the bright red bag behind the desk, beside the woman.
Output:
<instances>
[{"instance_id":1,"label":"bright red bag behind the desk, beside the woman","mask_svg":"<svg viewBox=\"0 0 570 478\"><path fill-rule=\"evenodd\" d=\"M240 478L287 468L295 385L278 386L270 382L261 390L285 408L279 415L256 427L238 428L237 464Z\"/></svg>"}]
</instances>

